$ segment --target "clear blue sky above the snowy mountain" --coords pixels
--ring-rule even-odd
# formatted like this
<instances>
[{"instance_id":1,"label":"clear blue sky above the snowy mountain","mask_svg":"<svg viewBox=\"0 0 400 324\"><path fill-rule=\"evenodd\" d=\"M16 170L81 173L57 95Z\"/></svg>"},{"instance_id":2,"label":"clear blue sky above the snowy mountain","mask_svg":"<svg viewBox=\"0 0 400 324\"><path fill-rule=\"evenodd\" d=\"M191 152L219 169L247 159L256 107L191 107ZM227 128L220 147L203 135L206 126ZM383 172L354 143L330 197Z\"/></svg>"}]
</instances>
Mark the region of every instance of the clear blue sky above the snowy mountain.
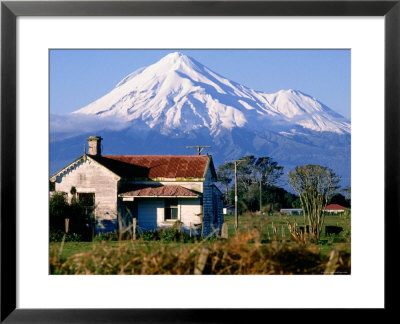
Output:
<instances>
[{"instance_id":1,"label":"clear blue sky above the snowy mountain","mask_svg":"<svg viewBox=\"0 0 400 324\"><path fill-rule=\"evenodd\" d=\"M175 51L254 90L300 90L350 118L350 50L51 50L50 112L82 108Z\"/></svg>"}]
</instances>

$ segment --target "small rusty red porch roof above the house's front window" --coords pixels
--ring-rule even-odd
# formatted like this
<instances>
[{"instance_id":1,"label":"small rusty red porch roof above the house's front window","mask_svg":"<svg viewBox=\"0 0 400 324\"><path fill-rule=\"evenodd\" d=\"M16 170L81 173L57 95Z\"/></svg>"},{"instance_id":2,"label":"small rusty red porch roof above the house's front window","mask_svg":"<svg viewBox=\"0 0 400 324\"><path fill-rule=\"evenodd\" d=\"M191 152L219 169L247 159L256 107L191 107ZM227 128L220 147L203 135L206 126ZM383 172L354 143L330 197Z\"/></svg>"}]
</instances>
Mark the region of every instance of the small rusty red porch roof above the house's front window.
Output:
<instances>
[{"instance_id":1,"label":"small rusty red porch roof above the house's front window","mask_svg":"<svg viewBox=\"0 0 400 324\"><path fill-rule=\"evenodd\" d=\"M181 186L133 185L131 190L120 194L122 197L198 197L199 194Z\"/></svg>"}]
</instances>

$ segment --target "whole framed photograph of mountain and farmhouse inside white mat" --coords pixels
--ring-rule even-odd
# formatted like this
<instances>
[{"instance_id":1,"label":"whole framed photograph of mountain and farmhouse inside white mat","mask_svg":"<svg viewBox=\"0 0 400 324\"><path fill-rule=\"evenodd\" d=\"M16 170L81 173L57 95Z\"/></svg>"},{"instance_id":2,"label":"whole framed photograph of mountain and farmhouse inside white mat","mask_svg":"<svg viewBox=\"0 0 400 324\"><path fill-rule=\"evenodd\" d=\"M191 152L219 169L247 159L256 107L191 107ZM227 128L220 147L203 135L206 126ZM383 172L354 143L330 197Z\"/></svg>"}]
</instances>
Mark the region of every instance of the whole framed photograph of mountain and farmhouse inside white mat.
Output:
<instances>
[{"instance_id":1,"label":"whole framed photograph of mountain and farmhouse inside white mat","mask_svg":"<svg viewBox=\"0 0 400 324\"><path fill-rule=\"evenodd\" d=\"M48 55L50 275L351 274L351 49Z\"/></svg>"}]
</instances>

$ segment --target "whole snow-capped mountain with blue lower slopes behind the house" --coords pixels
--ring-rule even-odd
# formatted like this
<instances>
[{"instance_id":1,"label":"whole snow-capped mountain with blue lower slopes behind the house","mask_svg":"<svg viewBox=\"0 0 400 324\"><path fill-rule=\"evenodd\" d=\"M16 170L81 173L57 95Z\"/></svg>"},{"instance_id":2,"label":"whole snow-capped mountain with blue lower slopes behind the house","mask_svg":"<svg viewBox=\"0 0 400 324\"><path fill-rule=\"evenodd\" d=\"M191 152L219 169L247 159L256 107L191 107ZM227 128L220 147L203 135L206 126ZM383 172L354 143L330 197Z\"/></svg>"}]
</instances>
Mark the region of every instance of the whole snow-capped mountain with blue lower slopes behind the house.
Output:
<instances>
[{"instance_id":1,"label":"whole snow-capped mountain with blue lower slopes behind the house","mask_svg":"<svg viewBox=\"0 0 400 324\"><path fill-rule=\"evenodd\" d=\"M186 145L211 145L217 165L270 156L286 172L321 164L350 182L349 120L301 91L255 91L182 53L134 71L72 114L52 116L50 129L51 173L81 154L85 136L101 135L106 154L193 154Z\"/></svg>"}]
</instances>

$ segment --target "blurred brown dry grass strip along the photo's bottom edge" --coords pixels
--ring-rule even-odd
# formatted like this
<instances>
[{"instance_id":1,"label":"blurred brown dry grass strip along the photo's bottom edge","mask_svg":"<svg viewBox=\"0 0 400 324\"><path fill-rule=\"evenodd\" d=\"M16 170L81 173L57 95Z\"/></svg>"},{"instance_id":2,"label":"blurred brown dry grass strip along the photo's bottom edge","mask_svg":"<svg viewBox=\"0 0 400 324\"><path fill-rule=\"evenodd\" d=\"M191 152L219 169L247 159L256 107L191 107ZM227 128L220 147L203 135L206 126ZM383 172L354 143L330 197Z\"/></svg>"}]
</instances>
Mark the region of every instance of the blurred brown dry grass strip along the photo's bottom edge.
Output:
<instances>
[{"instance_id":1,"label":"blurred brown dry grass strip along the photo's bottom edge","mask_svg":"<svg viewBox=\"0 0 400 324\"><path fill-rule=\"evenodd\" d=\"M90 251L61 259L50 253L52 274L350 274L350 256L322 256L314 245L261 243L257 229L228 240L166 244L141 241L95 243ZM61 245L62 246L62 245Z\"/></svg>"}]
</instances>

